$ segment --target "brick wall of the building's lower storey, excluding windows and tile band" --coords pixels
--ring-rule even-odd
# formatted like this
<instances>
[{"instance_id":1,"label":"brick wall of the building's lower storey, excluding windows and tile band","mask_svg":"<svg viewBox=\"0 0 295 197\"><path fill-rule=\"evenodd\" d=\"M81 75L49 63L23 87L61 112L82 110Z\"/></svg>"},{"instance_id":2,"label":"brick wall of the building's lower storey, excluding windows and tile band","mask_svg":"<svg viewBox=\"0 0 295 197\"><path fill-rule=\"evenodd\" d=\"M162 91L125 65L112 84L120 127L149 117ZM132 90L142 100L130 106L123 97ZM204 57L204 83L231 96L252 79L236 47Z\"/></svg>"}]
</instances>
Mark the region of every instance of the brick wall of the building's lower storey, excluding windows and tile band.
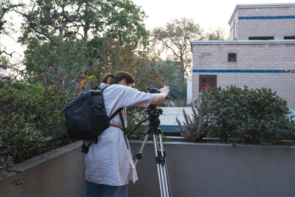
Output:
<instances>
[{"instance_id":1,"label":"brick wall of the building's lower storey, excluding windows and tile band","mask_svg":"<svg viewBox=\"0 0 295 197\"><path fill-rule=\"evenodd\" d=\"M294 19L295 20L295 19ZM205 43L205 41L203 41ZM208 41L207 41L208 42ZM295 70L295 44L193 44L193 70ZM234 41L232 41L234 42ZM287 41L285 41L287 42ZM283 42L281 42L283 43ZM228 53L237 53L237 61L227 61ZM192 100L198 98L199 75L217 75L217 86L271 88L295 107L295 73L203 73L193 72Z\"/></svg>"}]
</instances>

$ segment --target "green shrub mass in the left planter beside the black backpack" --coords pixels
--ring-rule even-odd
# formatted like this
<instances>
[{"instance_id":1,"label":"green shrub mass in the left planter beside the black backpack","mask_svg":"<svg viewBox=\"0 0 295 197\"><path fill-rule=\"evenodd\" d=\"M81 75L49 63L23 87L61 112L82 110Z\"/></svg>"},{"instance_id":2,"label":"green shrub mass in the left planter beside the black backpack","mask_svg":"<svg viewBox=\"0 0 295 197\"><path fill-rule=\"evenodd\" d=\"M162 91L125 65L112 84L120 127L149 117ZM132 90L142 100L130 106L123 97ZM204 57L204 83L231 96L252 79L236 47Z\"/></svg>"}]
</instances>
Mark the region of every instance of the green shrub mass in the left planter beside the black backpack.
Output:
<instances>
[{"instance_id":1,"label":"green shrub mass in the left planter beside the black backpack","mask_svg":"<svg viewBox=\"0 0 295 197\"><path fill-rule=\"evenodd\" d=\"M46 137L61 145L69 143L69 136L63 109L82 91L89 89L89 79L84 77L76 83L77 77L72 80L72 86L65 87L65 80L52 82L45 87L40 83L34 88L20 88L16 93L14 88L5 86L0 81L0 174L6 172L20 172L12 170L14 163L34 157L44 150ZM41 88L38 89L38 88ZM21 181L15 181L20 184Z\"/></svg>"}]
</instances>

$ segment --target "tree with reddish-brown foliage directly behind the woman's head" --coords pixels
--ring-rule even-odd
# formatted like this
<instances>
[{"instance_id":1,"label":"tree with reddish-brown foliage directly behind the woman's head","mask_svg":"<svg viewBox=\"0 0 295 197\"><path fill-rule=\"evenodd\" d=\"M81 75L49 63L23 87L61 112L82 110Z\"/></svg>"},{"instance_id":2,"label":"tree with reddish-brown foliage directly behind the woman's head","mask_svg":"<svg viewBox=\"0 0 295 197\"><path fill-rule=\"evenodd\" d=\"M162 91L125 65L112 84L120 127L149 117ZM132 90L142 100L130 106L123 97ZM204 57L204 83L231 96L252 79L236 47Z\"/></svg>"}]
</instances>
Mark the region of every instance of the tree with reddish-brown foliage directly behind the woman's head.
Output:
<instances>
[{"instance_id":1,"label":"tree with reddish-brown foliage directly behind the woman's head","mask_svg":"<svg viewBox=\"0 0 295 197\"><path fill-rule=\"evenodd\" d=\"M148 64L144 56L135 53L135 46L121 46L119 40L104 39L102 42L101 61L98 66L104 69L99 75L96 73L99 81L105 73L116 73L117 71L126 71L134 76L135 88L139 91L147 91L149 85L162 88L165 85L165 68L158 64Z\"/></svg>"}]
</instances>

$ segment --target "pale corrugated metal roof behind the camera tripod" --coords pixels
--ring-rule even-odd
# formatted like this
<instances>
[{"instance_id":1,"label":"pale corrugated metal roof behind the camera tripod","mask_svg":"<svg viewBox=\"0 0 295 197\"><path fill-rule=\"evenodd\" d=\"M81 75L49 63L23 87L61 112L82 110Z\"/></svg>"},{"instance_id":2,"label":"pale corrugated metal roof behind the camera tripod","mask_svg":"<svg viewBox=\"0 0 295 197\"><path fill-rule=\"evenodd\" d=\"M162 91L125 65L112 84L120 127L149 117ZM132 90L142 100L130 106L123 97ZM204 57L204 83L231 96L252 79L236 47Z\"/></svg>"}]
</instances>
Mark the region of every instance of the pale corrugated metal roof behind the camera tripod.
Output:
<instances>
[{"instance_id":1,"label":"pale corrugated metal roof behind the camera tripod","mask_svg":"<svg viewBox=\"0 0 295 197\"><path fill-rule=\"evenodd\" d=\"M160 125L178 125L176 117L184 125L183 109L190 118L192 118L193 114L191 107L161 107L161 109L163 110L163 114L159 116Z\"/></svg>"}]
</instances>

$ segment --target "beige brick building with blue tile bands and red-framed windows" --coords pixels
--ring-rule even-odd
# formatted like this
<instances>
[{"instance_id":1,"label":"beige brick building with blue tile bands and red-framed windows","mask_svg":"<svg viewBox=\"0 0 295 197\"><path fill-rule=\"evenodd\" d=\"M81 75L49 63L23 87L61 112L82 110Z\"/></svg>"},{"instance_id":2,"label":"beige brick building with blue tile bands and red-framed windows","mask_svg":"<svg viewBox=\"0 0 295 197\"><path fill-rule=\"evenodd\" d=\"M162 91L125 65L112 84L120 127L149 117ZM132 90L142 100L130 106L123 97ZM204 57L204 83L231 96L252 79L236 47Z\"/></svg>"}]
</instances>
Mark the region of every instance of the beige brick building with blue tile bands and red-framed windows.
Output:
<instances>
[{"instance_id":1,"label":"beige brick building with blue tile bands and red-framed windows","mask_svg":"<svg viewBox=\"0 0 295 197\"><path fill-rule=\"evenodd\" d=\"M228 41L191 41L192 100L204 84L271 88L295 107L295 3L237 5Z\"/></svg>"}]
</instances>

